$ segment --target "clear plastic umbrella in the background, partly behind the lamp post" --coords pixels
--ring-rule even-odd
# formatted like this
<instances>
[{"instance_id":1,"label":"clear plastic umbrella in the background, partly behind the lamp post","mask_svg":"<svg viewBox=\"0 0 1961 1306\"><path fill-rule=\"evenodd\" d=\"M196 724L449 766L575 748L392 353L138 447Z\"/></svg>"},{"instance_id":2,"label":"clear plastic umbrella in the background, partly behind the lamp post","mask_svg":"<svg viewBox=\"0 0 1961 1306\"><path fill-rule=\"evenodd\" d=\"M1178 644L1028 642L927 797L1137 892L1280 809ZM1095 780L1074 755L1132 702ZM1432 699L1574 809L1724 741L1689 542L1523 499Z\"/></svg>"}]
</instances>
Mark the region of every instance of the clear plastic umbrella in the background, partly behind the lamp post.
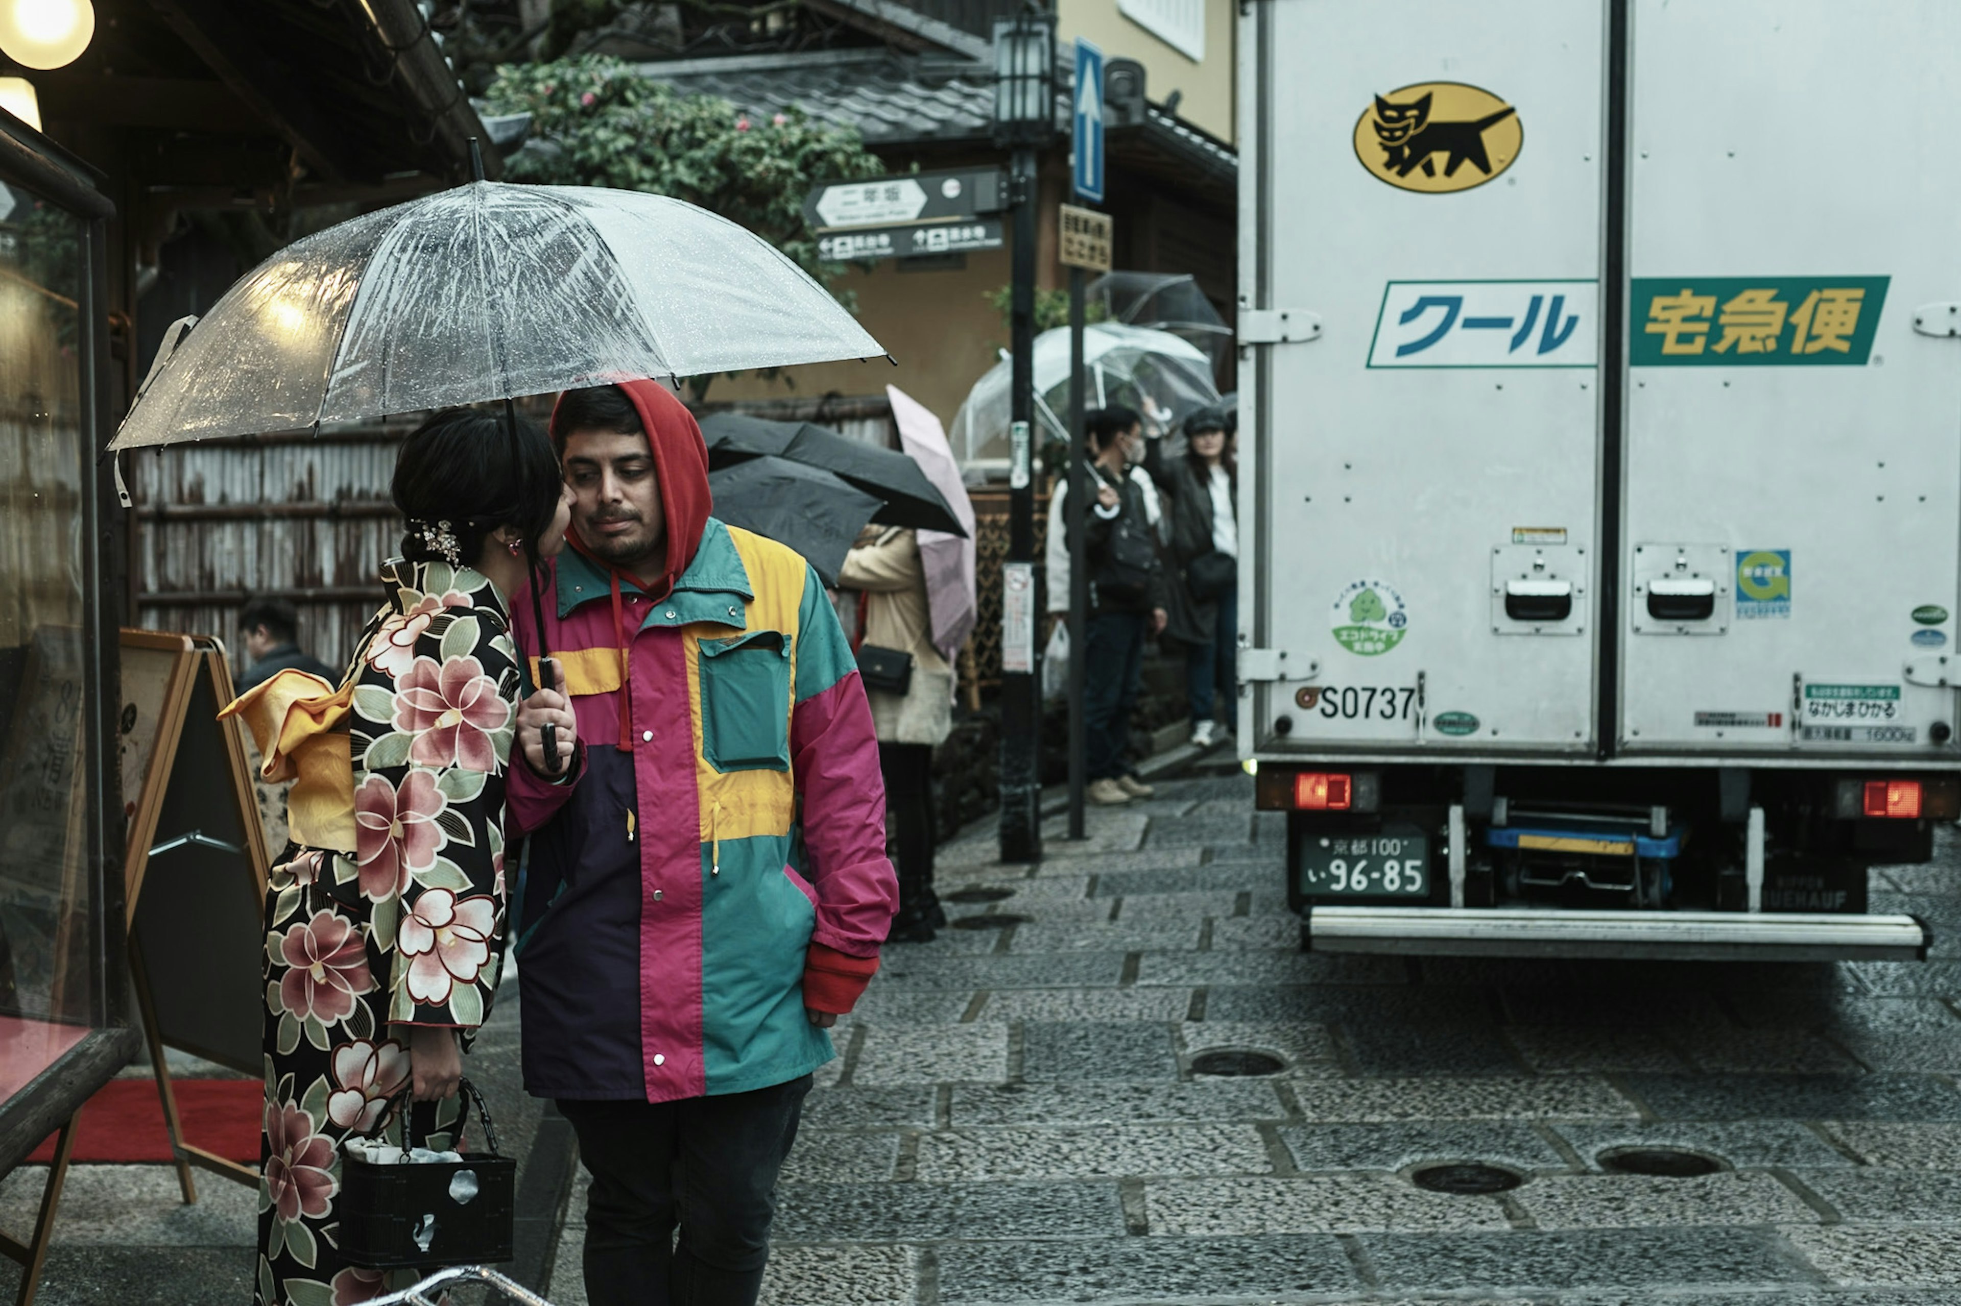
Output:
<instances>
[{"instance_id":1,"label":"clear plastic umbrella in the background, partly behind the lamp post","mask_svg":"<svg viewBox=\"0 0 1961 1306\"><path fill-rule=\"evenodd\" d=\"M1124 404L1143 414L1151 435L1220 402L1212 361L1192 343L1147 327L1098 322L1082 329L1084 408ZM969 390L953 418L953 455L965 467L1006 465L1010 455L1006 357ZM1035 337L1035 426L1041 439L1069 439L1069 327Z\"/></svg>"}]
</instances>

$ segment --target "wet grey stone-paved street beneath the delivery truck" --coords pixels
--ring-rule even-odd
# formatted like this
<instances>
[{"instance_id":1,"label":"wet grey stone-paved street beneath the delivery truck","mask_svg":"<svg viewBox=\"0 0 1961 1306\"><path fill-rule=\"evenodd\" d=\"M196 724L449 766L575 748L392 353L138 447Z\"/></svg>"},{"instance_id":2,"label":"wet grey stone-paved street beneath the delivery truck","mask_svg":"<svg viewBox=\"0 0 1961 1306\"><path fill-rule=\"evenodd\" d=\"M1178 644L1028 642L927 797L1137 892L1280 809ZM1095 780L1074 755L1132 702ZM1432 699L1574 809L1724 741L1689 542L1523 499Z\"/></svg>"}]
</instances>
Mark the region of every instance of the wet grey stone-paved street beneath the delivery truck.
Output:
<instances>
[{"instance_id":1,"label":"wet grey stone-paved street beneath the delivery truck","mask_svg":"<svg viewBox=\"0 0 1961 1306\"><path fill-rule=\"evenodd\" d=\"M1059 835L1033 875L990 828L941 849L955 928L888 949L839 1028L771 1306L1961 1300L1947 831L1873 884L1939 959L1841 967L1302 955L1281 818L1237 775ZM1208 1077L1212 1049L1284 1069ZM1630 1147L1722 1169L1602 1167ZM1410 1180L1447 1161L1524 1182Z\"/></svg>"}]
</instances>

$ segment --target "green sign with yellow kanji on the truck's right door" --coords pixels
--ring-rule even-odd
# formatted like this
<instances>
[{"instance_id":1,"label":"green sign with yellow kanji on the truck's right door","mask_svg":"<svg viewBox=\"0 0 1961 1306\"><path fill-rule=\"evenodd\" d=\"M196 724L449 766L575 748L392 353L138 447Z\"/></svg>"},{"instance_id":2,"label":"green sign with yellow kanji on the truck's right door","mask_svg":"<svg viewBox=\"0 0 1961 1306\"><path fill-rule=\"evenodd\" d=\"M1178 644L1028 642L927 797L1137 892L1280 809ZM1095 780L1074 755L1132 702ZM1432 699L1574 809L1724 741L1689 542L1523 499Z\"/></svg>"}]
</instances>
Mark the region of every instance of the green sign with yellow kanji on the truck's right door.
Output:
<instances>
[{"instance_id":1,"label":"green sign with yellow kanji on the truck's right door","mask_svg":"<svg viewBox=\"0 0 1961 1306\"><path fill-rule=\"evenodd\" d=\"M1886 276L1635 276L1634 367L1865 365Z\"/></svg>"}]
</instances>

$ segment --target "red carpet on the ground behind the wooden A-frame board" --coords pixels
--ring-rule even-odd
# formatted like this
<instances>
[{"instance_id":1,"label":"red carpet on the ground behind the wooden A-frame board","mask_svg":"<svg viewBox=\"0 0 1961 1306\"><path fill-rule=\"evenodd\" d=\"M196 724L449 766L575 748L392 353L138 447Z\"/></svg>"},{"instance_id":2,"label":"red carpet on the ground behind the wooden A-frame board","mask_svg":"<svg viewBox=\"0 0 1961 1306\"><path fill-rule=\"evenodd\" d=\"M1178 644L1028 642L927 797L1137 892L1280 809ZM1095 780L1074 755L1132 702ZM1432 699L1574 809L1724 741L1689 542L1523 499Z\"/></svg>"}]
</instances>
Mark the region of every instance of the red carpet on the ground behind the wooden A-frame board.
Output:
<instances>
[{"instance_id":1,"label":"red carpet on the ground behind the wooden A-frame board","mask_svg":"<svg viewBox=\"0 0 1961 1306\"><path fill-rule=\"evenodd\" d=\"M231 1161L259 1163L265 1086L257 1079L178 1079L176 1118L184 1141ZM53 1161L49 1137L29 1161ZM114 1079L88 1098L75 1137L76 1161L171 1161L171 1133L153 1079Z\"/></svg>"}]
</instances>

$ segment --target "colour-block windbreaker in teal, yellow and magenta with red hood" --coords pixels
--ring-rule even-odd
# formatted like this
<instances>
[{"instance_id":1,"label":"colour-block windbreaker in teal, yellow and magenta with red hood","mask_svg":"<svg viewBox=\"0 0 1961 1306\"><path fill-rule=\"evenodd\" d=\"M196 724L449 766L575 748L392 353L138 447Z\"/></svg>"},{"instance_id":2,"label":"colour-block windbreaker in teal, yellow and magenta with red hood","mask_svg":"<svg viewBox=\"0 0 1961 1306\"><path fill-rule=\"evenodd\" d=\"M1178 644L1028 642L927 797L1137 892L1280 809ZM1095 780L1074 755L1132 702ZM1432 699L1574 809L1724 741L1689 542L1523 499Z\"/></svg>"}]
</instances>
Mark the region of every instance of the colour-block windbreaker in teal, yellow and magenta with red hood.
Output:
<instances>
[{"instance_id":1,"label":"colour-block windbreaker in teal, yellow and magenta with red hood","mask_svg":"<svg viewBox=\"0 0 1961 1306\"><path fill-rule=\"evenodd\" d=\"M512 767L524 1079L537 1096L667 1102L830 1061L804 1008L851 1008L898 892L871 710L824 584L792 549L708 518L692 416L651 382L624 388L669 531L698 543L684 567L671 553L665 594L577 549L551 569L545 635L580 757L563 782ZM531 608L514 606L535 665Z\"/></svg>"}]
</instances>

